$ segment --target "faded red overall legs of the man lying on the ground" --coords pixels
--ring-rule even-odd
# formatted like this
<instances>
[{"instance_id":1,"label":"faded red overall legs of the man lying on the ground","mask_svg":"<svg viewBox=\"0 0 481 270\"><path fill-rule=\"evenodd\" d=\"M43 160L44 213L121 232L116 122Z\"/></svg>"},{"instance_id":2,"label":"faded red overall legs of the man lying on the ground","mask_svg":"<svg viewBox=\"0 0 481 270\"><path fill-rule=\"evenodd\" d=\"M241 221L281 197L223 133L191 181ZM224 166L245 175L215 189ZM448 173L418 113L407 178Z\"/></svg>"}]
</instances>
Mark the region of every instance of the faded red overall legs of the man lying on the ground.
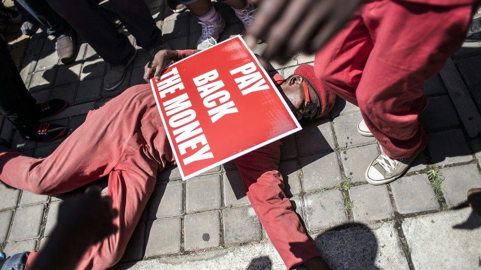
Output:
<instances>
[{"instance_id":1,"label":"faded red overall legs of the man lying on the ground","mask_svg":"<svg viewBox=\"0 0 481 270\"><path fill-rule=\"evenodd\" d=\"M119 229L89 247L78 269L113 266L137 226L162 163L154 160L152 153L164 149L154 150L153 142L157 146L166 141L165 134L155 136L159 127L151 124L159 118L155 106L149 85L134 87L89 113L50 156L36 159L15 152L0 154L0 180L37 194L62 194L108 174L107 195L119 211L114 220ZM36 254L29 256L27 267Z\"/></svg>"}]
</instances>

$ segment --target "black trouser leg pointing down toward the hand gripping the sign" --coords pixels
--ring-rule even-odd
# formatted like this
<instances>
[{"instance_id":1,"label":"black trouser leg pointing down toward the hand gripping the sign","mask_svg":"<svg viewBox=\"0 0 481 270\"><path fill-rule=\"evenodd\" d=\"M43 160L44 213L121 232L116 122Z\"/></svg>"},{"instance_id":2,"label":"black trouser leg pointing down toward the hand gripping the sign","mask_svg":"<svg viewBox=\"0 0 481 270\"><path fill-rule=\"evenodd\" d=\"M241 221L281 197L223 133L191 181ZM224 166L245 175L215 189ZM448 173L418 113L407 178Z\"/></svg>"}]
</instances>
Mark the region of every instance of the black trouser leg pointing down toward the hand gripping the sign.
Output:
<instances>
[{"instance_id":1,"label":"black trouser leg pointing down toward the hand gripping the sign","mask_svg":"<svg viewBox=\"0 0 481 270\"><path fill-rule=\"evenodd\" d=\"M163 42L162 32L155 25L143 0L111 0L112 9L142 48L151 49Z\"/></svg>"}]
</instances>

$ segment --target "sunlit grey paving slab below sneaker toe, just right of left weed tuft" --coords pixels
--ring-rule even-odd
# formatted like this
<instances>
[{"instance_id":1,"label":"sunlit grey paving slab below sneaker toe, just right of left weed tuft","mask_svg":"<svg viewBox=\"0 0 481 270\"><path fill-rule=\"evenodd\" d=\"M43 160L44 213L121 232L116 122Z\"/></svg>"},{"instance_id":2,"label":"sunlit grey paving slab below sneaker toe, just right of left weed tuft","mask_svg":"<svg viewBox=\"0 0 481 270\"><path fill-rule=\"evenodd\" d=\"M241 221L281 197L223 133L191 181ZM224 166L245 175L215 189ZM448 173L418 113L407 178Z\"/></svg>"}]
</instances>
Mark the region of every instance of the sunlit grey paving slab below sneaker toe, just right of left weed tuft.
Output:
<instances>
[{"instance_id":1,"label":"sunlit grey paving slab below sneaker toe, just right of left weed tuft","mask_svg":"<svg viewBox=\"0 0 481 270\"><path fill-rule=\"evenodd\" d=\"M393 210L385 185L358 185L349 189L352 215L356 222L390 218Z\"/></svg>"}]
</instances>

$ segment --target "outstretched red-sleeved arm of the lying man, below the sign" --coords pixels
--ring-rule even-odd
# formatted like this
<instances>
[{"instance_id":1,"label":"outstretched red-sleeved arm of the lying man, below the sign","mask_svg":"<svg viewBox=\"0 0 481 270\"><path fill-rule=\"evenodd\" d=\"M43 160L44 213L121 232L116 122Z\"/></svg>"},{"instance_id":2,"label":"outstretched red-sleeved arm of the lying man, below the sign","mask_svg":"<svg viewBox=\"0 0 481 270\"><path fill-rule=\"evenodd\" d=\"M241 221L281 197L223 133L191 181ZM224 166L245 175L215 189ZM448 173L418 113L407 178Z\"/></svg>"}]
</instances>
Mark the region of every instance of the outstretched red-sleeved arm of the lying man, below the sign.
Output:
<instances>
[{"instance_id":1,"label":"outstretched red-sleeved arm of the lying man, below the sign","mask_svg":"<svg viewBox=\"0 0 481 270\"><path fill-rule=\"evenodd\" d=\"M254 211L287 269L290 269L319 256L319 252L284 193L284 181L277 171L281 145L277 141L233 162L239 168Z\"/></svg>"}]
</instances>

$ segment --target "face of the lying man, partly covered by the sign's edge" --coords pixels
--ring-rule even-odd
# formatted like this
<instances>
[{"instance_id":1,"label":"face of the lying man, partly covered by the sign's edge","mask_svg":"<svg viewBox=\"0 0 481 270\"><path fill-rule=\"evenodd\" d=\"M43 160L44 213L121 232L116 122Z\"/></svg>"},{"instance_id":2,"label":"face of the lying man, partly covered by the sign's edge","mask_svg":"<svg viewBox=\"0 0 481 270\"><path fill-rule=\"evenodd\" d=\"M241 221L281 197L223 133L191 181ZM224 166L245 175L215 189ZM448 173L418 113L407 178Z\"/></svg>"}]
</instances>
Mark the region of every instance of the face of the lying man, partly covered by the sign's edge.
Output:
<instances>
[{"instance_id":1,"label":"face of the lying man, partly covered by the sign's edge","mask_svg":"<svg viewBox=\"0 0 481 270\"><path fill-rule=\"evenodd\" d=\"M279 87L282 96L287 101L289 108L292 110L297 120L302 118L304 113L304 105L306 103L304 85L302 83L303 81L304 78L301 76L291 75ZM316 98L313 98L315 97L315 93L310 87L309 96L311 102L314 102L317 106L320 106L320 104L317 104Z\"/></svg>"}]
</instances>

